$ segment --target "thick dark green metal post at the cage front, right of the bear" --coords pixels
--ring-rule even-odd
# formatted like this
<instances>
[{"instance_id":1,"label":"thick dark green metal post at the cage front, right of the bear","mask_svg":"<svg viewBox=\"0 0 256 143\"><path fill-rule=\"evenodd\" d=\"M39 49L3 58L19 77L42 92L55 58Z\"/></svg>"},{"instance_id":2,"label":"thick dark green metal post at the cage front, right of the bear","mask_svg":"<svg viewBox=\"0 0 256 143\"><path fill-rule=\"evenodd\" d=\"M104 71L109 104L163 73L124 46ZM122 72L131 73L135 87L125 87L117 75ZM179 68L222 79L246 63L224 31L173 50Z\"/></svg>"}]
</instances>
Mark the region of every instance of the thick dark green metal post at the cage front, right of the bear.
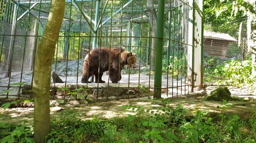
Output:
<instances>
[{"instance_id":1,"label":"thick dark green metal post at the cage front, right of the bear","mask_svg":"<svg viewBox=\"0 0 256 143\"><path fill-rule=\"evenodd\" d=\"M158 0L157 39L155 48L154 98L161 98L163 64L163 28L165 21L165 0Z\"/></svg>"}]
</instances>

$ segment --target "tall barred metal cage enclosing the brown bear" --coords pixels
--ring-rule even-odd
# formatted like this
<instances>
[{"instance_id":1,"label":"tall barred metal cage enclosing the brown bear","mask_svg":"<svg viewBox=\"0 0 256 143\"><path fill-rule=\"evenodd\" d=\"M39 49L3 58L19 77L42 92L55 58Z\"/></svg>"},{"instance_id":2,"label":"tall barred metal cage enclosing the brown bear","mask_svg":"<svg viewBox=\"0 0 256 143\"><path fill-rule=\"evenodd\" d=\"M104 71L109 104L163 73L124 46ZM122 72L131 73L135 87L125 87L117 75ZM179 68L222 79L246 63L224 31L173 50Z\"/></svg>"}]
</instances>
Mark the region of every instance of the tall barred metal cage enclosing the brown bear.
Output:
<instances>
[{"instance_id":1,"label":"tall barred metal cage enclosing the brown bear","mask_svg":"<svg viewBox=\"0 0 256 143\"><path fill-rule=\"evenodd\" d=\"M141 89L143 85L146 92L160 89L165 97L188 94L195 82L191 80L195 72L190 71L195 66L200 73L201 68L200 58L191 62L193 57L201 57L203 1L165 0L163 9L158 6L157 0L66 0L52 64L52 72L57 73L64 83L51 83L52 97L64 95L66 98L72 89L84 88L93 98L112 95L115 98L139 98L145 94ZM50 1L1 0L0 9L0 88L1 91L13 90L6 94L7 97L25 96L25 85L13 83L26 82L31 89L36 49L49 15ZM164 27L160 27L163 37L157 37L159 10L164 11ZM192 13L198 13L198 16L192 16ZM200 36L191 38L196 35ZM193 43L195 39L199 42L197 45ZM163 47L156 45L159 40L163 40ZM156 49L159 48L163 51L160 53L163 65L155 65L155 57L159 54ZM194 48L198 51L193 51ZM93 59L95 49L99 53ZM101 53L104 50L108 51L105 59L106 54ZM115 55L111 50L119 52ZM136 54L136 60L129 60L131 54L122 57L126 52ZM88 65L96 66L85 71L87 56ZM93 83L81 83L85 72L93 70L97 71L91 73L95 79L87 77L93 79L90 80ZM161 71L161 75L154 74L156 70ZM158 76L162 80L160 87L155 85ZM112 83L113 78L118 79L118 83ZM105 83L99 83L103 80Z\"/></svg>"}]
</instances>

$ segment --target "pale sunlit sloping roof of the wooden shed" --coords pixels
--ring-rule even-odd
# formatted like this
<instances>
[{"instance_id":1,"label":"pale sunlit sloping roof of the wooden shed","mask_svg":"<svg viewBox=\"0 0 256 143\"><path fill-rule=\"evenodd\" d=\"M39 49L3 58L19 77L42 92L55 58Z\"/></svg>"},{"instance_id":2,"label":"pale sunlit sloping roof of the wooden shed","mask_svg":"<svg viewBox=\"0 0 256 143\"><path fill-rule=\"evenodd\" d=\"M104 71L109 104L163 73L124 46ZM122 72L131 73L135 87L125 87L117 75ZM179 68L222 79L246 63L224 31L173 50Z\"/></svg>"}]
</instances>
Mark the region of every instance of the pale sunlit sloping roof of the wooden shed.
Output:
<instances>
[{"instance_id":1,"label":"pale sunlit sloping roof of the wooden shed","mask_svg":"<svg viewBox=\"0 0 256 143\"><path fill-rule=\"evenodd\" d=\"M230 36L229 34L210 32L210 31L204 31L204 38L237 41L234 37Z\"/></svg>"}]
</instances>

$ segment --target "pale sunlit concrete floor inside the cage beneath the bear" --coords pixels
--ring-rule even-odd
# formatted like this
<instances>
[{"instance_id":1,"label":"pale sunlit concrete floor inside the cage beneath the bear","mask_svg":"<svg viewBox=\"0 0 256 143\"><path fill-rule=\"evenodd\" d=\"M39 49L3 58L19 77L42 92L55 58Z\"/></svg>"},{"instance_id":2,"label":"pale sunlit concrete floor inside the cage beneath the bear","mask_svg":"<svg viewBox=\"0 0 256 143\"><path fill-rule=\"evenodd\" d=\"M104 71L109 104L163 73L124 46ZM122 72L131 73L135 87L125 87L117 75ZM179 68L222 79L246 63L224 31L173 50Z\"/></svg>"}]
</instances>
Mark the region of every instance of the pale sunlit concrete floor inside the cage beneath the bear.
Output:
<instances>
[{"instance_id":1,"label":"pale sunlit concrete floor inside the cage beneath the bear","mask_svg":"<svg viewBox=\"0 0 256 143\"><path fill-rule=\"evenodd\" d=\"M11 77L10 84L20 82L20 77L21 77L20 75ZM66 82L67 84L76 84L76 83L84 84L84 83L81 83L81 77L82 76L79 75L78 78L76 76L67 76L67 78L66 77L60 77L60 78L62 79L62 81ZM108 75L106 75L106 74L104 76L102 76L102 80L106 81L106 83L101 84L103 86L108 85L108 82L110 83L110 86L118 85L118 84L111 84L111 81L110 80L108 81ZM167 82L167 80L168 80L168 82ZM22 76L21 82L26 82L26 83L30 84L31 81L32 81L32 72L24 73ZM1 86L8 86L8 83L9 83L9 78L0 79ZM151 76L149 79L149 76L147 74L130 74L130 76L129 76L129 74L122 74L122 79L120 80L119 83L122 84L123 88L128 88L128 84L130 87L137 87L140 84L141 86L145 85L145 87L147 87L147 88L149 86L150 86L150 88L154 88L154 75ZM93 84L93 83L91 83L91 84ZM96 84L96 83L94 83L94 84ZM185 91L187 94L188 86L186 86L186 88L185 88L184 84L185 84L185 77L183 77L182 79L181 79L181 77L179 77L178 80L176 77L172 80L172 77L169 76L169 78L168 78L167 74L163 74L162 88L168 87L169 89L168 89L168 94L167 94L167 92L162 93L162 97L167 97L167 95L168 95L168 97L170 97L170 96L177 97L177 96L180 96L181 93L185 94ZM177 86L183 86L183 87L177 88ZM7 88L5 88L5 87L0 87L0 93L5 91L6 89ZM10 89L13 89L13 91L9 92L9 95L17 95L18 88L10 88Z\"/></svg>"}]
</instances>

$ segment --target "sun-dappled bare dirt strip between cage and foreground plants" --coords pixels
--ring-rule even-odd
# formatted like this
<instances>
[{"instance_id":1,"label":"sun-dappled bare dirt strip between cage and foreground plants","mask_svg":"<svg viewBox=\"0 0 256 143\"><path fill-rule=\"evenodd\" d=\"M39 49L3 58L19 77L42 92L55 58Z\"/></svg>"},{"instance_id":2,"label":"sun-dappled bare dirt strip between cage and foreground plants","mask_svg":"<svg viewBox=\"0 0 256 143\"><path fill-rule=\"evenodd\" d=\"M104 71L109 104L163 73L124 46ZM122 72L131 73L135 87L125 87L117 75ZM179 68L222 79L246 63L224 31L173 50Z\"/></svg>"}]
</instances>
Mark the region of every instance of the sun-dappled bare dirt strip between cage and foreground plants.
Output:
<instances>
[{"instance_id":1,"label":"sun-dappled bare dirt strip between cage and foreground plants","mask_svg":"<svg viewBox=\"0 0 256 143\"><path fill-rule=\"evenodd\" d=\"M213 89L216 89L218 86L208 86L205 89L198 89L198 93L205 91L207 94L210 93ZM256 103L256 94L247 94L245 89L236 88L233 86L228 87L232 96L237 96L245 98L246 101L230 101L229 104L232 104L232 107L229 107L226 113L239 115L241 119L249 119L255 110ZM174 97L171 99L171 105L177 106L178 104L182 105L184 108L189 109L191 113L194 113L196 110L206 110L212 116L217 116L221 111L218 110L218 106L221 106L219 101L202 101L201 94L190 94L181 97ZM54 102L54 101L52 101ZM145 110L152 109L155 105L152 105L153 102L160 102L159 100L151 99L121 99L121 100L99 100L95 103L89 104L79 104L79 105L58 105L51 107L51 120L68 118L70 113L79 114L81 119L92 119L94 116L96 118L113 118L118 117L122 118L131 114L130 112L124 112L122 109L123 105L133 104L136 106L141 106ZM33 122L33 110L34 108L12 108L12 109L0 109L0 120L2 122L28 122L32 124Z\"/></svg>"}]
</instances>

